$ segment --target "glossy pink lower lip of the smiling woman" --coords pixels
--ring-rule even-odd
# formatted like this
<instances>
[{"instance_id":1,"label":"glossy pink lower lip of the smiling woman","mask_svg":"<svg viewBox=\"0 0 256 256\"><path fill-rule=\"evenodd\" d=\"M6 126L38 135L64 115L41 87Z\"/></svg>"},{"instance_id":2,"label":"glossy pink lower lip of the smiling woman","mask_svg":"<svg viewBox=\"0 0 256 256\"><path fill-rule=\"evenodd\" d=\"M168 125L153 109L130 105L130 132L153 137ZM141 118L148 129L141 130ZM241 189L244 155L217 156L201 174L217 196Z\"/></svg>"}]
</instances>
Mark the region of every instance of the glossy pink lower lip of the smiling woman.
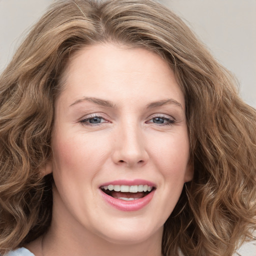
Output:
<instances>
[{"instance_id":1,"label":"glossy pink lower lip of the smiling woman","mask_svg":"<svg viewBox=\"0 0 256 256\"><path fill-rule=\"evenodd\" d=\"M122 210L122 211L135 211L135 210L142 209L150 202L150 200L152 199L152 197L154 195L154 191L155 191L155 189L154 189L149 194L147 194L144 197L141 197L139 199L125 201L122 199L114 198L114 197L104 193L100 188L99 188L99 190L100 190L100 193L101 193L103 199L107 203L109 203L114 208L116 208L118 210Z\"/></svg>"}]
</instances>

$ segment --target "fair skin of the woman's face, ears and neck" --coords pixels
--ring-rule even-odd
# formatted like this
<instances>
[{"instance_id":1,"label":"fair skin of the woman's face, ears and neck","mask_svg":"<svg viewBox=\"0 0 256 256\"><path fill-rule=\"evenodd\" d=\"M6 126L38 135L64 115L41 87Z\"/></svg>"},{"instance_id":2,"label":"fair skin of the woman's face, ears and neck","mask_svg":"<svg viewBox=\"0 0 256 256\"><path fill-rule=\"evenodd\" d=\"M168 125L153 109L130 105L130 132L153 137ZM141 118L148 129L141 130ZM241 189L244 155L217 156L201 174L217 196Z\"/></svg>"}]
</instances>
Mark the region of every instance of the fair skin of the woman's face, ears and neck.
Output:
<instances>
[{"instance_id":1,"label":"fair skin of the woman's face, ears and neck","mask_svg":"<svg viewBox=\"0 0 256 256\"><path fill-rule=\"evenodd\" d=\"M55 181L52 222L27 248L36 256L161 255L163 224L193 175L172 70L145 49L97 44L71 56L62 81L45 169ZM103 189L112 183L151 191Z\"/></svg>"}]
</instances>

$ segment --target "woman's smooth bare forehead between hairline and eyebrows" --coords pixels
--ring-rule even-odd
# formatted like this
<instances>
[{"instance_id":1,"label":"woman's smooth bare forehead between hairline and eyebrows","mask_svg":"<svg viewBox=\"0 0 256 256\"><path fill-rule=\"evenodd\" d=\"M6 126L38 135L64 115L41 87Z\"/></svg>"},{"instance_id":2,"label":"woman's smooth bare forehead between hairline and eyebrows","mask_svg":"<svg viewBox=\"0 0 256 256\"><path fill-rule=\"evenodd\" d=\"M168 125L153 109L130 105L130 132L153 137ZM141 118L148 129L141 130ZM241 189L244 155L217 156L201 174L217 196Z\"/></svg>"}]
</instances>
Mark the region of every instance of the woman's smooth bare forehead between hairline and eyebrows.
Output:
<instances>
[{"instance_id":1,"label":"woman's smooth bare forehead between hairline and eyebrows","mask_svg":"<svg viewBox=\"0 0 256 256\"><path fill-rule=\"evenodd\" d=\"M183 94L167 62L144 48L113 44L86 46L71 55L62 84L63 91L73 97L84 93L84 96L104 98L126 95L135 99L140 95L159 100L170 93L184 106Z\"/></svg>"}]
</instances>

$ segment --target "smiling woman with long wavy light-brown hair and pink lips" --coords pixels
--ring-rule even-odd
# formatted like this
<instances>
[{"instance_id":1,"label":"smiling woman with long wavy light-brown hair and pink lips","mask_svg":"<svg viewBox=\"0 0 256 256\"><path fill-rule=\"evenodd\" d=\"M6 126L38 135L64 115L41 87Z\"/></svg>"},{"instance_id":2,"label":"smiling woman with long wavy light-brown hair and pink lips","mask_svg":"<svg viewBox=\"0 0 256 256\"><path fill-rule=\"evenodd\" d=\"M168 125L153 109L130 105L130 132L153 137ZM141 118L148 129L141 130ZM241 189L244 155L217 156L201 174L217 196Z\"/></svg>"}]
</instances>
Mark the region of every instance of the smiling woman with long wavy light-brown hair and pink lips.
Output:
<instances>
[{"instance_id":1,"label":"smiling woman with long wavy light-brown hair and pink lips","mask_svg":"<svg viewBox=\"0 0 256 256\"><path fill-rule=\"evenodd\" d=\"M256 112L234 84L158 3L57 1L0 77L0 253L235 253Z\"/></svg>"}]
</instances>

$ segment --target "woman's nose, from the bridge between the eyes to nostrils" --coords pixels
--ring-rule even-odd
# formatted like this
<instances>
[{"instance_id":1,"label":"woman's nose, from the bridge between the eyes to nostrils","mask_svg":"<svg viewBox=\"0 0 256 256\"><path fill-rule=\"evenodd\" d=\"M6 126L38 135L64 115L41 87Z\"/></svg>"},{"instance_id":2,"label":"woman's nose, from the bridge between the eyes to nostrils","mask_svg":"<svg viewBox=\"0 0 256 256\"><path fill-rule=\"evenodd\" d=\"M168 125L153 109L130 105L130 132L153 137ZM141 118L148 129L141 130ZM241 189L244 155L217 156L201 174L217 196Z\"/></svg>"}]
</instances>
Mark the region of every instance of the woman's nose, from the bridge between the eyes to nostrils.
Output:
<instances>
[{"instance_id":1,"label":"woman's nose, from the bridge between the eyes to nostrils","mask_svg":"<svg viewBox=\"0 0 256 256\"><path fill-rule=\"evenodd\" d=\"M122 125L114 134L112 161L126 167L144 165L148 159L145 140L138 125Z\"/></svg>"}]
</instances>

